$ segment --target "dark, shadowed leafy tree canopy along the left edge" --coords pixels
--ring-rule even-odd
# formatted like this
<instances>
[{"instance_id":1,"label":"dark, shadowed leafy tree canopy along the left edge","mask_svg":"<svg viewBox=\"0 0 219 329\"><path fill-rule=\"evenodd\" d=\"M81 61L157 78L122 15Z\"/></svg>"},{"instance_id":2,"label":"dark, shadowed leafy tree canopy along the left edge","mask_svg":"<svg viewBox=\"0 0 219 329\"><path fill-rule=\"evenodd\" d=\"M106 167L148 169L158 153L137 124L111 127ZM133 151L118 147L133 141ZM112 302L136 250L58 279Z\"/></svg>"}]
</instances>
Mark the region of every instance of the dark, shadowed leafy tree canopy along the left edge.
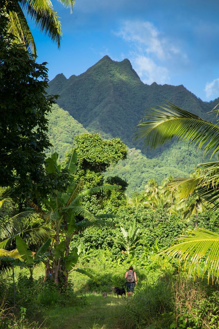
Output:
<instances>
[{"instance_id":1,"label":"dark, shadowed leafy tree canopy along the left edge","mask_svg":"<svg viewBox=\"0 0 219 329\"><path fill-rule=\"evenodd\" d=\"M63 188L68 177L47 174L45 150L51 147L47 114L55 103L47 94L46 63L37 64L0 22L0 185L13 188L20 200L43 197L52 185Z\"/></svg>"}]
</instances>

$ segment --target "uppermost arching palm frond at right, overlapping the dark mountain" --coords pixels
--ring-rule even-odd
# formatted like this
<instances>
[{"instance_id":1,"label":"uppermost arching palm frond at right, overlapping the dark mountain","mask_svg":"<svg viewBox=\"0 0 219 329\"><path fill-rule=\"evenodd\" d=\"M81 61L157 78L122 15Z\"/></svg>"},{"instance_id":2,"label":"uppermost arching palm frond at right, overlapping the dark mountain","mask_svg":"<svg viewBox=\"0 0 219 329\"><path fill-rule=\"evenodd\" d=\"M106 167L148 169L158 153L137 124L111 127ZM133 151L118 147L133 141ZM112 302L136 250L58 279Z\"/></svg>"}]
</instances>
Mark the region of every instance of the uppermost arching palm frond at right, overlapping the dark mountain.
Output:
<instances>
[{"instance_id":1,"label":"uppermost arching palm frond at right, overlapping the dark mountain","mask_svg":"<svg viewBox=\"0 0 219 329\"><path fill-rule=\"evenodd\" d=\"M204 154L219 151L219 127L170 102L151 108L136 128L135 139L142 140L144 148L156 148L175 136L195 143Z\"/></svg>"}]
</instances>

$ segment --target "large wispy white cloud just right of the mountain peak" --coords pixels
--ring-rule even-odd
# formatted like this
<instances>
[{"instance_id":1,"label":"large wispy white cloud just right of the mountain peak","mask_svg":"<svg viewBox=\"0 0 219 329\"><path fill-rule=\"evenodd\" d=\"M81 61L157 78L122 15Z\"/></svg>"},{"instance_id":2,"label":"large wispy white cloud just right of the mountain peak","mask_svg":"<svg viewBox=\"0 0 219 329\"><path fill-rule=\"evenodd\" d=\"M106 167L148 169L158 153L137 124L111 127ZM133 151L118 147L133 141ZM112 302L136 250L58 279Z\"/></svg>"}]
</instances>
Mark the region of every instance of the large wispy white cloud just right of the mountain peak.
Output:
<instances>
[{"instance_id":1,"label":"large wispy white cloud just right of the mountain peak","mask_svg":"<svg viewBox=\"0 0 219 329\"><path fill-rule=\"evenodd\" d=\"M151 22L125 21L115 34L129 44L128 58L144 83L168 83L174 65L188 61L186 54Z\"/></svg>"}]
</instances>

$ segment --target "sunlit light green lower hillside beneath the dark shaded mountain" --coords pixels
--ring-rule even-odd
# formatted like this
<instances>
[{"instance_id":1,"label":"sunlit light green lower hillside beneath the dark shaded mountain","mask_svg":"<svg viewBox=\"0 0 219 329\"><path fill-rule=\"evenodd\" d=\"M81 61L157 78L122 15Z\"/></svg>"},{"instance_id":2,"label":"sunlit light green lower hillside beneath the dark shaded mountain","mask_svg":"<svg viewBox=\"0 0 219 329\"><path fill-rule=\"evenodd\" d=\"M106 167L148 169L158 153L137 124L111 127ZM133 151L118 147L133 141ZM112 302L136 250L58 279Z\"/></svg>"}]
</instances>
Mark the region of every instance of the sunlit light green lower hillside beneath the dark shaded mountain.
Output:
<instances>
[{"instance_id":1,"label":"sunlit light green lower hillside beneath the dark shaded mountain","mask_svg":"<svg viewBox=\"0 0 219 329\"><path fill-rule=\"evenodd\" d=\"M52 113L49 113L48 119L48 135L53 148L47 153L49 155L56 151L59 159L64 160L64 154L73 147L75 135L88 131L57 104L52 107ZM169 175L184 177L193 171L195 164L203 161L202 152L192 147L188 148L183 143L175 142L161 151L160 156L147 158L140 150L129 149L127 159L120 161L114 167L111 166L106 176L118 175L125 179L129 184L127 192L132 194L135 190L142 190L150 178L155 178L158 183L161 183Z\"/></svg>"}]
</instances>

